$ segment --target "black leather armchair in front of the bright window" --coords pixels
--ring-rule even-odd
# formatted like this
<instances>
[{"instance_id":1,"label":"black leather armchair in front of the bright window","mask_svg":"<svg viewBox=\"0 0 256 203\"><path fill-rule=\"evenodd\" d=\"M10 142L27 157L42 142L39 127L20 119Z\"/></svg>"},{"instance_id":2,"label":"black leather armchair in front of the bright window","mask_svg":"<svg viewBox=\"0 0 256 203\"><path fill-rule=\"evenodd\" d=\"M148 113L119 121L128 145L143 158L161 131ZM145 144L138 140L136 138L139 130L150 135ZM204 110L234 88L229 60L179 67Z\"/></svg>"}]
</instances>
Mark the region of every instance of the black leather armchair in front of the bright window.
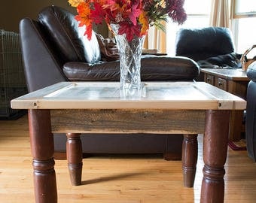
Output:
<instances>
[{"instance_id":1,"label":"black leather armchair in front of the bright window","mask_svg":"<svg viewBox=\"0 0 256 203\"><path fill-rule=\"evenodd\" d=\"M235 53L233 35L223 27L178 30L175 55L194 59L200 68L241 68L242 55Z\"/></svg>"}]
</instances>

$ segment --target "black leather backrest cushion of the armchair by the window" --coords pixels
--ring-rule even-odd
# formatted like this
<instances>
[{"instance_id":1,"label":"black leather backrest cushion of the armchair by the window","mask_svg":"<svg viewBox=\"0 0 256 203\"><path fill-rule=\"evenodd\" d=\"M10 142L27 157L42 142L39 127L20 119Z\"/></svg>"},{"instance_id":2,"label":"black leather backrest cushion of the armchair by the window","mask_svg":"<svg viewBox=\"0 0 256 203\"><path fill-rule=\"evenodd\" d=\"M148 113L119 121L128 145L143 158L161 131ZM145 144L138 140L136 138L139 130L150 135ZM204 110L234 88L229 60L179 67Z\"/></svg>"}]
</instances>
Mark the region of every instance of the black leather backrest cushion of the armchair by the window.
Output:
<instances>
[{"instance_id":1,"label":"black leather backrest cushion of the armchair by the window","mask_svg":"<svg viewBox=\"0 0 256 203\"><path fill-rule=\"evenodd\" d=\"M180 29L175 47L176 56L187 56L195 61L234 52L232 33L222 27Z\"/></svg>"}]
</instances>

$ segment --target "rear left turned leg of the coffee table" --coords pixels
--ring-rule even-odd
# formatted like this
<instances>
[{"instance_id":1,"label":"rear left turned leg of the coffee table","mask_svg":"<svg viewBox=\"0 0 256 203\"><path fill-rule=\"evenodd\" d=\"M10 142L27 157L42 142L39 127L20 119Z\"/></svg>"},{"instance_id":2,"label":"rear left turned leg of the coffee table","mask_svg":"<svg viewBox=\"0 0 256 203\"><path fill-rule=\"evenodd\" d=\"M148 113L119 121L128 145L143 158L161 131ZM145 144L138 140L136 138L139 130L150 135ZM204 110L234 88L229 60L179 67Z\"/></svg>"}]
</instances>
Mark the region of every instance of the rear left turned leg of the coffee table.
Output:
<instances>
[{"instance_id":1,"label":"rear left turned leg of the coffee table","mask_svg":"<svg viewBox=\"0 0 256 203\"><path fill-rule=\"evenodd\" d=\"M81 185L83 168L83 150L80 133L67 134L67 159L69 166L69 176L73 186Z\"/></svg>"}]
</instances>

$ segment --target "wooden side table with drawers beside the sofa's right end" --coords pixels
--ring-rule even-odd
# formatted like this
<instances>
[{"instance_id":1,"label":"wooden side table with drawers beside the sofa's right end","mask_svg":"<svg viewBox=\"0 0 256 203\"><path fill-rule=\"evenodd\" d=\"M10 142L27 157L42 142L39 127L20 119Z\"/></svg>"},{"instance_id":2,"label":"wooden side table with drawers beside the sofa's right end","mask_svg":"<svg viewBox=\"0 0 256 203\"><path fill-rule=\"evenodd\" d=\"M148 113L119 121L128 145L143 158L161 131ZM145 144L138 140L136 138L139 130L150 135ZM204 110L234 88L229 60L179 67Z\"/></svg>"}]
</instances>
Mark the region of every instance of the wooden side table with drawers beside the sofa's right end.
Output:
<instances>
[{"instance_id":1,"label":"wooden side table with drawers beside the sofa's right end","mask_svg":"<svg viewBox=\"0 0 256 203\"><path fill-rule=\"evenodd\" d=\"M201 68L204 74L204 81L213 86L217 86L224 91L230 92L246 100L246 92L249 79L242 69L222 69L222 68ZM239 141L241 132L245 132L242 124L243 111L232 111L230 114L230 141Z\"/></svg>"}]
</instances>

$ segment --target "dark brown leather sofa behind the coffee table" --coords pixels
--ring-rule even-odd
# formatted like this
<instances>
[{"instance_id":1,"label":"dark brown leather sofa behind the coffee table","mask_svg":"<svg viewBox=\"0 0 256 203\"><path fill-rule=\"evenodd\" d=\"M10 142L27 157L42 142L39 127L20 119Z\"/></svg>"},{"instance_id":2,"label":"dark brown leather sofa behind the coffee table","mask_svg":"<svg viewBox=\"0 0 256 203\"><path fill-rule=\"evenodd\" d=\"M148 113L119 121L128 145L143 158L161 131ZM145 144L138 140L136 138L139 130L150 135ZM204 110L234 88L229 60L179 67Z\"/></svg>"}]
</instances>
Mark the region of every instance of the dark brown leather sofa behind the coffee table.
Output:
<instances>
[{"instance_id":1,"label":"dark brown leather sofa behind the coffee table","mask_svg":"<svg viewBox=\"0 0 256 203\"><path fill-rule=\"evenodd\" d=\"M78 28L74 15L51 6L37 20L20 21L20 38L29 92L66 80L119 80L119 61L102 59L95 33L91 41ZM142 80L194 80L196 62L185 57L142 57ZM163 153L166 159L181 159L182 135L81 136L84 153ZM55 150L66 151L66 136L54 135Z\"/></svg>"}]
</instances>

